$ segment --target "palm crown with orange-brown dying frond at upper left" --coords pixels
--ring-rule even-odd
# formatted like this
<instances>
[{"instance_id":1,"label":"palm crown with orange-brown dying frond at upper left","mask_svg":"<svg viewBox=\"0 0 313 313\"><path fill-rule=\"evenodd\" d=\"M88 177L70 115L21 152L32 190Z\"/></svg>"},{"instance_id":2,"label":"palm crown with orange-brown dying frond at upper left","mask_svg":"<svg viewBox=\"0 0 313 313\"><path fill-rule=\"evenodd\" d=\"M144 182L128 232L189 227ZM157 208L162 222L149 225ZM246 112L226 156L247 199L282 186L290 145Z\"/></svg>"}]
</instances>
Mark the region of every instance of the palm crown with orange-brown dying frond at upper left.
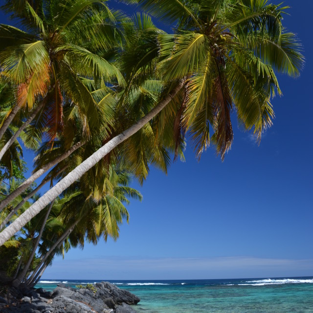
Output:
<instances>
[{"instance_id":1,"label":"palm crown with orange-brown dying frond at upper left","mask_svg":"<svg viewBox=\"0 0 313 313\"><path fill-rule=\"evenodd\" d=\"M45 102L46 135L54 139L63 126L64 99L80 106L90 135L89 128L97 122L96 104L81 76L122 84L117 68L93 53L116 45L119 33L113 34L119 16L100 0L5 2L4 9L30 32L0 25L2 75L18 86L17 104L3 122L0 137L21 108L31 110ZM81 24L84 27L78 28Z\"/></svg>"}]
</instances>

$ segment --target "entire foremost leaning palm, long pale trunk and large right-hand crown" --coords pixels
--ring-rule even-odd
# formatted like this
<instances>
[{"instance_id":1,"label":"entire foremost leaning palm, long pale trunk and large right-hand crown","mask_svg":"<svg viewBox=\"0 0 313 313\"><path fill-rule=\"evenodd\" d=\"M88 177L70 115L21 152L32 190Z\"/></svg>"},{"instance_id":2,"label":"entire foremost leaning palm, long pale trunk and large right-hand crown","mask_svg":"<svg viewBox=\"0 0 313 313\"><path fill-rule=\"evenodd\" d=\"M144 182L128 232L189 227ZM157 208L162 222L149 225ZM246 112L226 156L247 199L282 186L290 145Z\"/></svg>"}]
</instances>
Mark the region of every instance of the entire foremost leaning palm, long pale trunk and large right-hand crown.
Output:
<instances>
[{"instance_id":1,"label":"entire foremost leaning palm, long pale trunk and large right-hand crown","mask_svg":"<svg viewBox=\"0 0 313 313\"><path fill-rule=\"evenodd\" d=\"M210 142L224 158L233 134L230 112L260 139L273 116L270 98L280 93L274 70L297 76L303 63L300 45L282 26L286 7L266 0L138 0L150 13L177 22L175 35L160 35L156 75L168 84L156 106L112 138L34 203L0 234L0 244L58 194L139 131L183 91L179 130L189 129L196 152Z\"/></svg>"}]
</instances>

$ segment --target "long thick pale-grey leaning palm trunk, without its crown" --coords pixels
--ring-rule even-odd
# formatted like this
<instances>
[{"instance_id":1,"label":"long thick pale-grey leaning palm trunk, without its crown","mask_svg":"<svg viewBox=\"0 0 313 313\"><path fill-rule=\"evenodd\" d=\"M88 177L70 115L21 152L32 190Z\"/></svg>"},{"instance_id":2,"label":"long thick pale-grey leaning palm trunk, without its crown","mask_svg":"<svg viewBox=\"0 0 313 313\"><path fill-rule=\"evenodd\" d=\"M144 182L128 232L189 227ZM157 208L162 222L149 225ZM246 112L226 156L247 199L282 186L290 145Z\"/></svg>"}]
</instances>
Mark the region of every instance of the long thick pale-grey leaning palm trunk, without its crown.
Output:
<instances>
[{"instance_id":1,"label":"long thick pale-grey leaning palm trunk, without its crown","mask_svg":"<svg viewBox=\"0 0 313 313\"><path fill-rule=\"evenodd\" d=\"M18 217L12 224L6 227L0 233L0 246L3 245L9 238L11 238L17 231L19 231L26 223L28 223L34 216L36 216L49 202L60 195L67 187L74 181L83 176L90 168L92 168L99 160L112 151L118 144L128 139L130 136L139 131L146 125L153 117L156 116L183 88L184 81L178 84L168 95L161 100L157 106L151 110L147 115L142 117L137 123L128 128L123 133L112 138L108 143L102 146L94 154L89 156L84 162L78 165L71 171L64 179L61 179L53 188L48 190L44 196L31 205L20 217Z\"/></svg>"}]
</instances>

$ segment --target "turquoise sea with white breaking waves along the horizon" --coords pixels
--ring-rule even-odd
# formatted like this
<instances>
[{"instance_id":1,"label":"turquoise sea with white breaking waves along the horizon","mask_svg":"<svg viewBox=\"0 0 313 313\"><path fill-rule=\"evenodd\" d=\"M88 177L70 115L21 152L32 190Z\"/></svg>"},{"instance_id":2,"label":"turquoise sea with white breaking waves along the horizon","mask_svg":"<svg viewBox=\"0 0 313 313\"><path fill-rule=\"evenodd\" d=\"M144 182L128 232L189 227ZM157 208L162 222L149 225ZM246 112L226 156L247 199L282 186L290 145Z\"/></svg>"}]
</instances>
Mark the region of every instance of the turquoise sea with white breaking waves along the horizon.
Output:
<instances>
[{"instance_id":1,"label":"turquoise sea with white breaking waves along the horizon","mask_svg":"<svg viewBox=\"0 0 313 313\"><path fill-rule=\"evenodd\" d=\"M41 280L36 288L97 282ZM110 282L140 297L138 313L313 313L313 277Z\"/></svg>"}]
</instances>

